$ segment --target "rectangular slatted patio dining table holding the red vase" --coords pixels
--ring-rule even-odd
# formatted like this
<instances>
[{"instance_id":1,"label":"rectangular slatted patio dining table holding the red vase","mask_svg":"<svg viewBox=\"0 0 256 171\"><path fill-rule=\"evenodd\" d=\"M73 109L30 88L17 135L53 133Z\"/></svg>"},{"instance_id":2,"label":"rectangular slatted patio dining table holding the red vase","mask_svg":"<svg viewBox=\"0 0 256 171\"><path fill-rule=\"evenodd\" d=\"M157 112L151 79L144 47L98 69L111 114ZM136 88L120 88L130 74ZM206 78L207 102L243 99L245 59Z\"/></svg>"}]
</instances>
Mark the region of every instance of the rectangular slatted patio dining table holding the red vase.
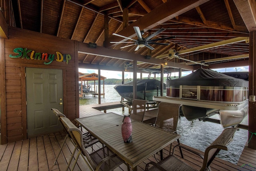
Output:
<instances>
[{"instance_id":1,"label":"rectangular slatted patio dining table holding the red vase","mask_svg":"<svg viewBox=\"0 0 256 171\"><path fill-rule=\"evenodd\" d=\"M138 164L180 138L176 133L132 120L132 142L124 143L121 132L123 116L112 112L75 121L128 163L133 171L137 170Z\"/></svg>"}]
</instances>

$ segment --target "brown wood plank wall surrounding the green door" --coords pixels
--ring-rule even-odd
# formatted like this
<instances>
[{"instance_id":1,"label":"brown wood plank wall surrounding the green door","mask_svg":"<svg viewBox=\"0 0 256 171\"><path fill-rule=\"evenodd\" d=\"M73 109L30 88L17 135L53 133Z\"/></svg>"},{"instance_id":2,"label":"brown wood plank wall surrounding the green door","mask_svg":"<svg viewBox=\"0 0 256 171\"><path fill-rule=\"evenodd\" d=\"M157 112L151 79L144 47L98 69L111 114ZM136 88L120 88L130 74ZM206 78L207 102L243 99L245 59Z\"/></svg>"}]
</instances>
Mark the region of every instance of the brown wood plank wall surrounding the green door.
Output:
<instances>
[{"instance_id":1,"label":"brown wood plank wall surrounding the green door","mask_svg":"<svg viewBox=\"0 0 256 171\"><path fill-rule=\"evenodd\" d=\"M2 128L6 127L6 130L1 130L1 139L7 138L7 142L27 139L26 67L62 69L64 114L71 120L79 117L77 41L12 27L9 27L8 34L9 38L4 40L6 99L3 100L6 100L6 106L1 106L1 111L6 107L6 118L1 118L6 119L6 123L1 125ZM48 62L43 60L10 58L10 54L16 55L13 52L14 48L27 48L35 52L55 54L55 58L49 65L43 64ZM68 64L55 60L57 51L71 55ZM5 113L1 113L1 117L4 116Z\"/></svg>"}]
</instances>

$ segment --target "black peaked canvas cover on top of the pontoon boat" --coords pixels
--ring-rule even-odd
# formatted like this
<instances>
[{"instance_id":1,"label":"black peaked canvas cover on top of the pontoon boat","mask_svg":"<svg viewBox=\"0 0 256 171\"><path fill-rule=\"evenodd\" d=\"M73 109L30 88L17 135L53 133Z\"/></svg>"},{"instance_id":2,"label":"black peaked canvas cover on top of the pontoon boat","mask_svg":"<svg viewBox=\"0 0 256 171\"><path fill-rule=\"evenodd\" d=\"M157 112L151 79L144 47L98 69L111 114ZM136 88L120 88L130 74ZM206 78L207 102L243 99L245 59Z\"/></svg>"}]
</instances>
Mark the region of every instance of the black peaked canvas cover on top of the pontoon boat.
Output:
<instances>
[{"instance_id":1,"label":"black peaked canvas cover on top of the pontoon boat","mask_svg":"<svg viewBox=\"0 0 256 171\"><path fill-rule=\"evenodd\" d=\"M210 69L199 68L188 76L168 80L167 86L178 85L203 85L203 86L229 86L229 87L249 87L248 81L227 76Z\"/></svg>"}]
</instances>

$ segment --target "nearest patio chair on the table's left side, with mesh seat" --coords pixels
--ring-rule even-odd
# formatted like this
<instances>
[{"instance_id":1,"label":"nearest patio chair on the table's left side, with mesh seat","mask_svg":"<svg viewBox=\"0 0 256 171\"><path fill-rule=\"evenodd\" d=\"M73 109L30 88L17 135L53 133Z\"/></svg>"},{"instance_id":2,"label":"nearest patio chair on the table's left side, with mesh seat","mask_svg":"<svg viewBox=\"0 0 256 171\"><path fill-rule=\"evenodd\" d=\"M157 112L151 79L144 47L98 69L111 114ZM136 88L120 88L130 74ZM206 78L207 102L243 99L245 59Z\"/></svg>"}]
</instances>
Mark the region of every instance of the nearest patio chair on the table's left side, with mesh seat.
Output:
<instances>
[{"instance_id":1,"label":"nearest patio chair on the table's left side, with mesh seat","mask_svg":"<svg viewBox=\"0 0 256 171\"><path fill-rule=\"evenodd\" d=\"M68 118L60 118L62 123L64 123L65 127L68 128L68 133L72 137L72 140L75 142L76 147L72 153L72 156L70 157L70 161L68 162L68 166L66 168L66 171L69 169L70 163L72 161L72 158L74 157L74 154L76 152L76 149L78 149L78 154L75 158L74 165L70 169L71 171L74 170L74 167L76 165L76 162L78 160L79 155L82 153L82 158L88 165L88 167L91 170L98 171L111 171L124 163L122 159L120 159L116 154L114 154L110 149L108 149L106 146L102 147L101 149L98 149L97 151L94 151L92 153L88 153L86 151L86 147L84 146L83 137L82 137L82 131L78 129ZM86 156L86 159L84 158Z\"/></svg>"}]
</instances>

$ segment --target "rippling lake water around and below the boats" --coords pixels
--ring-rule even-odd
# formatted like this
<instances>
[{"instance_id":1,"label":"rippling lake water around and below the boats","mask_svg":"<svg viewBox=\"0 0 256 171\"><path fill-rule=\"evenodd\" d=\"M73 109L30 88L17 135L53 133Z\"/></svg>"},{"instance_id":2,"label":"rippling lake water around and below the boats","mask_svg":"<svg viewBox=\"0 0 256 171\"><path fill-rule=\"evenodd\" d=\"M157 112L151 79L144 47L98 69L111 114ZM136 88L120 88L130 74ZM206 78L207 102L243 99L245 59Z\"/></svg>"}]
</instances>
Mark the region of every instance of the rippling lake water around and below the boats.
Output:
<instances>
[{"instance_id":1,"label":"rippling lake water around and below the boats","mask_svg":"<svg viewBox=\"0 0 256 171\"><path fill-rule=\"evenodd\" d=\"M92 85L91 90L94 90ZM105 85L105 97L101 97L101 103L120 101L121 96L114 89L115 85ZM97 89L97 85L96 85ZM103 92L103 89L101 90ZM88 105L98 103L98 96L93 97L88 94L83 99L80 99L80 105ZM110 109L107 112L115 112L120 115L128 114L128 108ZM218 115L214 115L214 118L218 118ZM219 118L218 118L219 119ZM243 124L248 124L248 117L244 119ZM212 141L214 141L218 135L223 131L223 127L217 123L203 122L199 120L188 121L186 117L181 117L178 121L177 130L178 134L182 135L180 142L204 151ZM228 151L221 150L218 154L219 158L230 161L237 164L238 159L246 145L248 139L248 130L239 129L234 135L234 140L228 145Z\"/></svg>"}]
</instances>

